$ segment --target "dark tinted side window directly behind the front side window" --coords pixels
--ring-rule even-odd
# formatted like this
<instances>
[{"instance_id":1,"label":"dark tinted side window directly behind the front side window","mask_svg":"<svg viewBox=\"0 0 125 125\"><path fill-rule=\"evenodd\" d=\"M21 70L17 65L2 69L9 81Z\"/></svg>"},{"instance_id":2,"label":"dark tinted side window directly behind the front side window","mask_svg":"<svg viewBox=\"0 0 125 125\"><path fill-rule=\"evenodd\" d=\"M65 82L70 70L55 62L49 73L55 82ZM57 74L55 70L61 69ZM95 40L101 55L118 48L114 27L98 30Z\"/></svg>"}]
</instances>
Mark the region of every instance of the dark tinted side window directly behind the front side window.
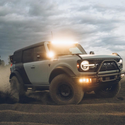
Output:
<instances>
[{"instance_id":1,"label":"dark tinted side window directly behind the front side window","mask_svg":"<svg viewBox=\"0 0 125 125\"><path fill-rule=\"evenodd\" d=\"M27 49L23 51L23 62L32 62L33 59L33 48L32 49Z\"/></svg>"}]
</instances>

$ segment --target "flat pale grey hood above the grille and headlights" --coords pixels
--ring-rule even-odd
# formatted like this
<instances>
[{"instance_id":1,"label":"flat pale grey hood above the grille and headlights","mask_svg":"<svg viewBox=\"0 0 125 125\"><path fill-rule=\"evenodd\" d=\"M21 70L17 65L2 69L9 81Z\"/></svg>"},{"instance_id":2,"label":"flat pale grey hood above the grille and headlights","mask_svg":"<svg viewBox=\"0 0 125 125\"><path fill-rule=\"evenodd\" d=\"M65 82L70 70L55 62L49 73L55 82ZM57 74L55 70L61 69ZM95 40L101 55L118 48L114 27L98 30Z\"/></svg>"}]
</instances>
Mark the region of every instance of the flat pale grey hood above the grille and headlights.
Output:
<instances>
[{"instance_id":1,"label":"flat pale grey hood above the grille and headlights","mask_svg":"<svg viewBox=\"0 0 125 125\"><path fill-rule=\"evenodd\" d=\"M79 55L82 59L120 59L120 56L115 55Z\"/></svg>"}]
</instances>

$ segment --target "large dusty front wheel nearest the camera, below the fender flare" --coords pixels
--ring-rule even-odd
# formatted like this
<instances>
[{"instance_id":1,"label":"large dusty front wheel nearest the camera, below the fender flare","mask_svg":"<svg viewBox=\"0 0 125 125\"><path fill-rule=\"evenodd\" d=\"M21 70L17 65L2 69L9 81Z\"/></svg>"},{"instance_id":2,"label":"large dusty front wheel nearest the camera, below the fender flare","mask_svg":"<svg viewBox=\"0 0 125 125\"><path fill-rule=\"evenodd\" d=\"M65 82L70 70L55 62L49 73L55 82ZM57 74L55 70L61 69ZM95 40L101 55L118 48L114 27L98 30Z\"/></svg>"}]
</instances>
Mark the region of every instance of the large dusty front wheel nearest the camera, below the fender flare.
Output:
<instances>
[{"instance_id":1,"label":"large dusty front wheel nearest the camera, below the fender flare","mask_svg":"<svg viewBox=\"0 0 125 125\"><path fill-rule=\"evenodd\" d=\"M84 95L82 87L73 80L61 74L56 76L50 84L50 95L57 104L78 104Z\"/></svg>"}]
</instances>

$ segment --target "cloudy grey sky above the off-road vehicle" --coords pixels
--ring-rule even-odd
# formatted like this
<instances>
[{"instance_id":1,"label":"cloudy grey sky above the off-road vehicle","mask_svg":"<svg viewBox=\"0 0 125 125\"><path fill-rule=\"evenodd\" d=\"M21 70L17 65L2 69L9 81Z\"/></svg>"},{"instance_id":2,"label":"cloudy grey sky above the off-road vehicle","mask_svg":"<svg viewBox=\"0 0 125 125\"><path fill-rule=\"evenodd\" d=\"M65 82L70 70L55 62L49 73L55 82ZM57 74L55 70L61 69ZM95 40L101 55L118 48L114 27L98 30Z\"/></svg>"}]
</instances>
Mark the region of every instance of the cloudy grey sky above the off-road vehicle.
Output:
<instances>
[{"instance_id":1,"label":"cloudy grey sky above the off-road vehicle","mask_svg":"<svg viewBox=\"0 0 125 125\"><path fill-rule=\"evenodd\" d=\"M125 58L124 0L0 0L0 56L53 39ZM52 34L53 37L52 37Z\"/></svg>"}]
</instances>

